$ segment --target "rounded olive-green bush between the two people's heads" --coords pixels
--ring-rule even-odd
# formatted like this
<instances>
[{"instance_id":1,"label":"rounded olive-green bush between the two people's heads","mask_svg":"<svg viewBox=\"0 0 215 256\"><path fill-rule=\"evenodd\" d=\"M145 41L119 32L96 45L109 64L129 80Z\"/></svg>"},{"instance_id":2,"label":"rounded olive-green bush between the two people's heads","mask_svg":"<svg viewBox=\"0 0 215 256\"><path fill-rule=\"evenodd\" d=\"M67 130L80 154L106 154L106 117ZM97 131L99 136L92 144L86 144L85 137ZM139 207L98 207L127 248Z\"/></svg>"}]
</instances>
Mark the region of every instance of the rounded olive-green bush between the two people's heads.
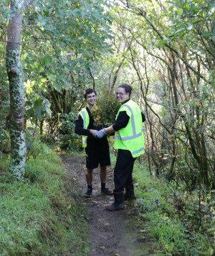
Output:
<instances>
[{"instance_id":1,"label":"rounded olive-green bush between the two people's heads","mask_svg":"<svg viewBox=\"0 0 215 256\"><path fill-rule=\"evenodd\" d=\"M103 90L97 97L95 106L92 107L91 114L97 126L109 127L115 121L115 116L120 108L120 103L115 95L108 90Z\"/></svg>"}]
</instances>

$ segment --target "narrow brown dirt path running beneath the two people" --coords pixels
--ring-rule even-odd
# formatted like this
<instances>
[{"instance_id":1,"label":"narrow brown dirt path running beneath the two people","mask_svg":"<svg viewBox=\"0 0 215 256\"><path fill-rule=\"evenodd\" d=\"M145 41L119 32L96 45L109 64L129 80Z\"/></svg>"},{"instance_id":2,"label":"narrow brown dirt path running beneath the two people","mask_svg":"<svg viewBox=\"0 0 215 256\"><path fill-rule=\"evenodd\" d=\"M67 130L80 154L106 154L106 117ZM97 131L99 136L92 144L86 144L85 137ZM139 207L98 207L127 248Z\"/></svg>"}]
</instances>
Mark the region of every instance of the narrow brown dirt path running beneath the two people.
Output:
<instances>
[{"instance_id":1,"label":"narrow brown dirt path running beneath the two people","mask_svg":"<svg viewBox=\"0 0 215 256\"><path fill-rule=\"evenodd\" d=\"M75 180L76 190L84 195L86 191L85 157L61 155L65 167ZM108 168L107 185L113 189L113 170ZM104 205L113 201L113 196L100 193L100 175L98 169L93 171L92 198L82 197L89 212L89 256L144 256L156 255L151 243L140 239L138 230L132 227L131 220L137 218L135 203L128 203L125 210L107 211ZM81 256L81 255L80 255Z\"/></svg>"}]
</instances>

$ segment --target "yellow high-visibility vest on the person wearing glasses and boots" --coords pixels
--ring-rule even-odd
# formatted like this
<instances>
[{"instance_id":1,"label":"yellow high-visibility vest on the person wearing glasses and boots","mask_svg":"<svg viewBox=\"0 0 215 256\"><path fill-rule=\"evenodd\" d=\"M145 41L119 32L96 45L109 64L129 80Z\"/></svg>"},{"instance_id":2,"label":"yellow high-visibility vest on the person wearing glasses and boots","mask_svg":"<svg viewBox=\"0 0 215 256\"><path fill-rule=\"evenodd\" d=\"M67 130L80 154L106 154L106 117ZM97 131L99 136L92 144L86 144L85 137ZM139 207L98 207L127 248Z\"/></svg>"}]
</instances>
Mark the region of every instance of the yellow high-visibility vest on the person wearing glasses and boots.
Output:
<instances>
[{"instance_id":1,"label":"yellow high-visibility vest on the person wearing glasses and boots","mask_svg":"<svg viewBox=\"0 0 215 256\"><path fill-rule=\"evenodd\" d=\"M126 111L130 119L125 128L115 132L114 147L115 149L130 150L133 157L138 157L145 152L141 109L138 104L129 100L120 107L118 114L120 111Z\"/></svg>"}]
</instances>

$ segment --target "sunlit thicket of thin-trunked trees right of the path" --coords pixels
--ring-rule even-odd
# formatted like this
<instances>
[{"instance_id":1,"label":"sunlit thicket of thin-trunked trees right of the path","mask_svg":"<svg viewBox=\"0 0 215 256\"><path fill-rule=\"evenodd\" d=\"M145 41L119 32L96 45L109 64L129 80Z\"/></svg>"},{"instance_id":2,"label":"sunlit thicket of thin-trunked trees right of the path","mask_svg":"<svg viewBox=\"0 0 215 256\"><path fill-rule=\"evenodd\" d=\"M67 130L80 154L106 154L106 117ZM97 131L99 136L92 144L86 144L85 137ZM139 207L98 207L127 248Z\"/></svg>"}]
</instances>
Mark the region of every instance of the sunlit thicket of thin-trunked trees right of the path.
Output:
<instances>
[{"instance_id":1,"label":"sunlit thicket of thin-trunked trees right of the path","mask_svg":"<svg viewBox=\"0 0 215 256\"><path fill-rule=\"evenodd\" d=\"M188 191L214 188L214 1L127 1L113 15L147 113L150 168Z\"/></svg>"}]
</instances>

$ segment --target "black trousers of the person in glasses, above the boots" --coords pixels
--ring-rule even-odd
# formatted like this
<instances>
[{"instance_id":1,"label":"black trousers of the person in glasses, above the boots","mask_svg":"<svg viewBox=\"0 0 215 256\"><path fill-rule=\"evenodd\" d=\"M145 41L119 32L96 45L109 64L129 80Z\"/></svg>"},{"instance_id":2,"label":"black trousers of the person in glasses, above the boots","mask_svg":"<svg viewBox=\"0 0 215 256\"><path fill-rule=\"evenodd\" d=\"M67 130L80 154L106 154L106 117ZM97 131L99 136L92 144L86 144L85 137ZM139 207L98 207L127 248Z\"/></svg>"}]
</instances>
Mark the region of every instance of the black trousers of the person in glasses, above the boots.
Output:
<instances>
[{"instance_id":1,"label":"black trousers of the person in glasses, above the boots","mask_svg":"<svg viewBox=\"0 0 215 256\"><path fill-rule=\"evenodd\" d=\"M129 150L118 150L114 168L115 192L124 191L126 186L133 183L132 172L135 159Z\"/></svg>"}]
</instances>

